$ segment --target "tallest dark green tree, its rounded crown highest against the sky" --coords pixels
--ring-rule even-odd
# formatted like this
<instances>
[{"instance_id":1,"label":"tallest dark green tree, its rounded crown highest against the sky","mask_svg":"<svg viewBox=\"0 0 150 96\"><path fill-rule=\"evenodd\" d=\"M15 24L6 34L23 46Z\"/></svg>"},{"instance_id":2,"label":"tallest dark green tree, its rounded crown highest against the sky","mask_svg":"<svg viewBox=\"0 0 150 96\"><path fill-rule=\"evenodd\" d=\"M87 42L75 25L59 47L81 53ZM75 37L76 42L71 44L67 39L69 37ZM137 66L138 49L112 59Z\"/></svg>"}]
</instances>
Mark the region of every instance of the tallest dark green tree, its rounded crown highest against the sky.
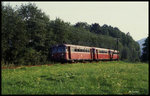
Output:
<instances>
[{"instance_id":1,"label":"tallest dark green tree, its rounded crown highest against the sky","mask_svg":"<svg viewBox=\"0 0 150 96\"><path fill-rule=\"evenodd\" d=\"M51 37L51 29L48 28L49 17L38 9L35 4L31 3L21 5L17 11L26 23L27 36L29 37L26 52L41 55L38 59L33 58L33 61L40 60L39 62L41 63L46 62L50 47L48 42ZM26 60L29 60L28 58Z\"/></svg>"}]
</instances>

